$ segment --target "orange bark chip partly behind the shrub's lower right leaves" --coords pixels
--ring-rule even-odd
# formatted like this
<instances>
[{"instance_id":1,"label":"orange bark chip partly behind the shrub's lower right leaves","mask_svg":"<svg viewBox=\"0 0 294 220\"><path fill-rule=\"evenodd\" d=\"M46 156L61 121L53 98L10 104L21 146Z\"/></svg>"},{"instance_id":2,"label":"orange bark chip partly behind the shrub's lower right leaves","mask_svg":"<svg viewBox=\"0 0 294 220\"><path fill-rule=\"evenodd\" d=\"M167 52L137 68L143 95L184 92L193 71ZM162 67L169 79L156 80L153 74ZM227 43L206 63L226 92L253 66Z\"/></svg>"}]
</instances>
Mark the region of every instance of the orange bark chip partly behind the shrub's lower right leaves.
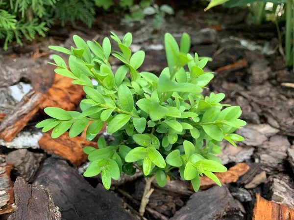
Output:
<instances>
[{"instance_id":1,"label":"orange bark chip partly behind the shrub's lower right leaves","mask_svg":"<svg viewBox=\"0 0 294 220\"><path fill-rule=\"evenodd\" d=\"M243 176L250 167L245 163L238 163L235 166L231 167L227 172L225 173L216 173L215 175L219 178L221 181L221 184L227 184L232 182L237 182L240 176ZM205 190L208 188L211 188L213 186L216 186L217 184L212 181L207 176L201 176L200 177L200 190ZM191 184L191 189L193 190L193 186Z\"/></svg>"}]
</instances>

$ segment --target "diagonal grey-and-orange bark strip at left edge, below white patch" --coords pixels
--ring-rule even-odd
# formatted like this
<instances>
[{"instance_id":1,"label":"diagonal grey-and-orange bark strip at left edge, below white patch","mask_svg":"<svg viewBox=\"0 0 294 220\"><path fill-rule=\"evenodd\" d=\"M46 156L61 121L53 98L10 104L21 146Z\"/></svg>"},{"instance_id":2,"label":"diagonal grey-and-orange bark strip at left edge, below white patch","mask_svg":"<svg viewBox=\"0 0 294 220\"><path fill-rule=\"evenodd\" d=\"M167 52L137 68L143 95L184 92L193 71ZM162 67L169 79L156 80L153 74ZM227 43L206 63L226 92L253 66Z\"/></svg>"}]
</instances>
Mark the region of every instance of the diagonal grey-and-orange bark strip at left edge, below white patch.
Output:
<instances>
[{"instance_id":1,"label":"diagonal grey-and-orange bark strip at left edge, below white patch","mask_svg":"<svg viewBox=\"0 0 294 220\"><path fill-rule=\"evenodd\" d=\"M40 92L31 90L19 102L15 110L7 114L0 124L0 138L11 141L39 110L44 100Z\"/></svg>"}]
</instances>

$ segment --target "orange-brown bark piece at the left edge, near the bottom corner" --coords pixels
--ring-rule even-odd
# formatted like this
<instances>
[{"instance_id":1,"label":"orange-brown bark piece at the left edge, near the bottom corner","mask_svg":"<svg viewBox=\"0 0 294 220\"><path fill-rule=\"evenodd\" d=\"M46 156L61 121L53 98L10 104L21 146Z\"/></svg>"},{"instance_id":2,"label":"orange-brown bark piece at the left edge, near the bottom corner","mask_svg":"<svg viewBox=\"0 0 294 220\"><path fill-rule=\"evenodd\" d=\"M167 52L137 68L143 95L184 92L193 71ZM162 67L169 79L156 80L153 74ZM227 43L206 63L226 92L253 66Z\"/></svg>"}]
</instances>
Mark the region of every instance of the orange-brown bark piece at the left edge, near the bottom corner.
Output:
<instances>
[{"instance_id":1,"label":"orange-brown bark piece at the left edge, near the bottom corner","mask_svg":"<svg viewBox=\"0 0 294 220\"><path fill-rule=\"evenodd\" d=\"M14 196L13 196L13 185L10 179L10 172L12 170L12 165L10 163L1 163L0 164L0 178L1 178L1 191L5 191L5 194L8 195L6 204L0 207L0 215L5 213L14 212ZM2 185L3 184L3 185ZM4 197L2 197L4 198ZM4 202L1 200L1 202Z\"/></svg>"}]
</instances>

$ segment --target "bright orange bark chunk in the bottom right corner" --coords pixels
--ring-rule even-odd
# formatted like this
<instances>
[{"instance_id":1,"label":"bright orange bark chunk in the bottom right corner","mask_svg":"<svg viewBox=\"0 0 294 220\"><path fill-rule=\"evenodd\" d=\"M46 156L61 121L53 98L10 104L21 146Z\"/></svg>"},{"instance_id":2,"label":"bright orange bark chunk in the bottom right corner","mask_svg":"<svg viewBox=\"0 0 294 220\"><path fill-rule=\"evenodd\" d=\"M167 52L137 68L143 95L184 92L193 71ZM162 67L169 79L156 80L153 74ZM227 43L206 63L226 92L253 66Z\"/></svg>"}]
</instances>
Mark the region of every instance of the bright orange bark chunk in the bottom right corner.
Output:
<instances>
[{"instance_id":1,"label":"bright orange bark chunk in the bottom right corner","mask_svg":"<svg viewBox=\"0 0 294 220\"><path fill-rule=\"evenodd\" d=\"M256 195L252 220L294 220L294 209Z\"/></svg>"}]
</instances>

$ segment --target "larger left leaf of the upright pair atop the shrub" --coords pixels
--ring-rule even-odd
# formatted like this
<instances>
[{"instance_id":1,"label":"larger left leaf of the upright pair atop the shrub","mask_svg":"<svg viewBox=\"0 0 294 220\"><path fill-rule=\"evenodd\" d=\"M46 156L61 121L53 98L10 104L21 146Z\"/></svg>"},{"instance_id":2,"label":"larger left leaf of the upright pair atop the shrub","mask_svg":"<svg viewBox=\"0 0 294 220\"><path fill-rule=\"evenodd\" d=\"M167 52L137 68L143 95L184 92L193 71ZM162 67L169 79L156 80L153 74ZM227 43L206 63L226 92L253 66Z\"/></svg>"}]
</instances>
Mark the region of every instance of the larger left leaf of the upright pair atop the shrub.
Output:
<instances>
[{"instance_id":1,"label":"larger left leaf of the upright pair atop the shrub","mask_svg":"<svg viewBox=\"0 0 294 220\"><path fill-rule=\"evenodd\" d=\"M177 64L177 58L178 58L180 49L175 39L172 37L170 33L165 34L164 44L165 44L168 66L170 68L170 71L173 72L174 66L176 66Z\"/></svg>"}]
</instances>

